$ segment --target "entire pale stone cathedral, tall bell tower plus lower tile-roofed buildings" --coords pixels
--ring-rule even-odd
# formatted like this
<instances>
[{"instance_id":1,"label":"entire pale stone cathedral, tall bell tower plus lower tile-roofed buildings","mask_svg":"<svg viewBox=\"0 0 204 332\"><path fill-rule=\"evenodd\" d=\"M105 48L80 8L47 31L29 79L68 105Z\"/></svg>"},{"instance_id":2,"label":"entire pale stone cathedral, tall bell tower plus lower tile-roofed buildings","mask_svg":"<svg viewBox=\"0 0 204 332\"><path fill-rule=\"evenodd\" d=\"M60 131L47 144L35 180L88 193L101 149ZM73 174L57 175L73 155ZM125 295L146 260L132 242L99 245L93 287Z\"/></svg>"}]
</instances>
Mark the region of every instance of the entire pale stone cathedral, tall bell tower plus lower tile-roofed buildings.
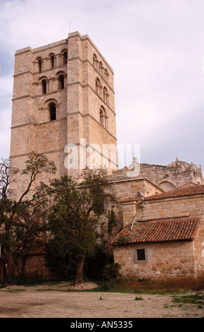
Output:
<instances>
[{"instance_id":1,"label":"entire pale stone cathedral, tall bell tower plus lower tile-roofed buildings","mask_svg":"<svg viewBox=\"0 0 204 332\"><path fill-rule=\"evenodd\" d=\"M166 166L139 164L134 158L132 165L118 169L114 73L89 36L72 32L65 40L16 51L13 77L13 165L23 169L34 151L55 162L55 177L75 177L85 166L106 167L121 203L111 244L122 273L200 275L201 167L178 158ZM101 232L106 232L105 216L103 221ZM42 252L30 254L27 275L51 278Z\"/></svg>"}]
</instances>

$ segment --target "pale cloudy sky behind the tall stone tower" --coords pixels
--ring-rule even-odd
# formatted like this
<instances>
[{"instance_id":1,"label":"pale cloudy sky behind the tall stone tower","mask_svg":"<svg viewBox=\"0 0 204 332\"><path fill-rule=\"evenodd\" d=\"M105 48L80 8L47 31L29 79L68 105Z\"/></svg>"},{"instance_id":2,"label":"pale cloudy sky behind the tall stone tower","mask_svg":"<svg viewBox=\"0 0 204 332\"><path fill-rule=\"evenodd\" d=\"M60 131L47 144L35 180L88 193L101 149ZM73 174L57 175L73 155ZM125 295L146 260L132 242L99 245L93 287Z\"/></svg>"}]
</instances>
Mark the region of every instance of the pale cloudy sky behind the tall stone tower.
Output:
<instances>
[{"instance_id":1,"label":"pale cloudy sky behind the tall stone tower","mask_svg":"<svg viewBox=\"0 0 204 332\"><path fill-rule=\"evenodd\" d=\"M10 150L15 50L89 35L115 73L117 142L140 161L204 170L204 0L1 0L0 158Z\"/></svg>"}]
</instances>

